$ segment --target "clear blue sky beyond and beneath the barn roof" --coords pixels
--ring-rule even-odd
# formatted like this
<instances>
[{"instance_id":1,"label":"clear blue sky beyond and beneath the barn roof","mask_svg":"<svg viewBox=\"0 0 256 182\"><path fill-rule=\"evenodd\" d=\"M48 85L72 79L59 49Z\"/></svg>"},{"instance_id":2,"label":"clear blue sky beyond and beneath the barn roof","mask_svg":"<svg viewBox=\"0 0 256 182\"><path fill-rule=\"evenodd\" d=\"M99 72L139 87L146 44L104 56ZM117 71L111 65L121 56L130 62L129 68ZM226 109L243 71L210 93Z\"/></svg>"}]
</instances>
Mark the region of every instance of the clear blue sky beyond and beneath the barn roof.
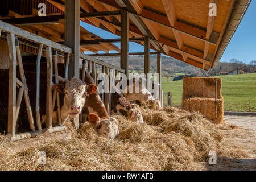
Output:
<instances>
[{"instance_id":1,"label":"clear blue sky beyond and beneath the barn roof","mask_svg":"<svg viewBox=\"0 0 256 182\"><path fill-rule=\"evenodd\" d=\"M81 26L104 39L119 38L119 36L111 34L100 28L91 26L90 24L80 22ZM114 43L120 47L120 43ZM129 43L129 52L143 52L144 47L137 43ZM116 51L110 51L115 53ZM92 53L92 52L86 52ZM104 53L100 51L100 53ZM256 0L250 3L249 9L238 26L236 33L226 48L221 61L230 61L236 58L248 64L251 60L256 60Z\"/></svg>"}]
</instances>

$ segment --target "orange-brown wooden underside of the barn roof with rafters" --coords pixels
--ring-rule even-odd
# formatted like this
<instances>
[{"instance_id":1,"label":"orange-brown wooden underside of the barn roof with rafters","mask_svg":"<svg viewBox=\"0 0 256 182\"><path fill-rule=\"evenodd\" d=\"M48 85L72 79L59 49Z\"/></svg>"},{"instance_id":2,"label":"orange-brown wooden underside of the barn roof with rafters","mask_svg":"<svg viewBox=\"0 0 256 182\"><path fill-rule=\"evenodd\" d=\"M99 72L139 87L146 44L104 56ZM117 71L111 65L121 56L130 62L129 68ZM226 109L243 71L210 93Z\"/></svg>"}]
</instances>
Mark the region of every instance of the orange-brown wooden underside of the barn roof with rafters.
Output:
<instances>
[{"instance_id":1,"label":"orange-brown wooden underside of the barn roof with rafters","mask_svg":"<svg viewBox=\"0 0 256 182\"><path fill-rule=\"evenodd\" d=\"M11 0L9 2L13 2ZM52 6L47 13L64 13L64 0L23 0L37 5L38 2L45 2ZM165 55L174 57L180 61L194 65L201 69L210 69L218 46L221 42L230 14L234 7L234 0L80 0L81 12L92 13L101 11L126 10L129 14L129 38L147 37L150 39L150 48L160 51ZM216 3L217 16L210 17L209 3ZM25 6L22 7L26 9ZM34 7L35 9L36 7ZM10 9L11 10L11 9ZM24 10L23 10L24 11ZM33 10L32 14L35 14ZM11 11L9 11L10 13ZM15 13L18 13L15 11ZM27 11L28 13L28 11ZM30 13L31 14L31 13ZM23 16L30 15L23 12ZM11 13L9 17L13 17ZM102 28L115 35L121 35L120 15L81 18L82 21ZM35 26L26 26L24 29ZM60 41L64 34L64 24L51 24L36 29L47 32L51 40ZM98 36L81 30L81 39L101 39ZM59 35L55 36L54 34ZM48 35L51 34L51 35ZM92 36L93 35L93 36ZM143 44L143 42L139 42ZM82 51L97 52L103 50L108 52L118 47L111 43L100 43L98 46L81 47Z\"/></svg>"}]
</instances>

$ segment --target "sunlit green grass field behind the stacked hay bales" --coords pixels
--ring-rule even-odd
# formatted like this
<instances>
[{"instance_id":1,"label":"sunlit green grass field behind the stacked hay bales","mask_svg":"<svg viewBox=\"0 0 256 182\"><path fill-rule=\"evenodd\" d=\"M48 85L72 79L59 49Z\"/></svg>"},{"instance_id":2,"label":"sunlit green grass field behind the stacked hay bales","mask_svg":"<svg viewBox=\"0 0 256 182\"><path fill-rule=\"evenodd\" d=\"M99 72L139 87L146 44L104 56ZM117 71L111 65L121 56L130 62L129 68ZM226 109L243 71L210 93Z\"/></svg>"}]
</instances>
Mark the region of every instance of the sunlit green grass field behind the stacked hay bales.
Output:
<instances>
[{"instance_id":1,"label":"sunlit green grass field behind the stacked hay bales","mask_svg":"<svg viewBox=\"0 0 256 182\"><path fill-rule=\"evenodd\" d=\"M225 111L256 112L256 73L242 75L218 76L222 79L222 96L224 97ZM163 92L172 93L172 106L181 107L183 80L162 82Z\"/></svg>"}]
</instances>

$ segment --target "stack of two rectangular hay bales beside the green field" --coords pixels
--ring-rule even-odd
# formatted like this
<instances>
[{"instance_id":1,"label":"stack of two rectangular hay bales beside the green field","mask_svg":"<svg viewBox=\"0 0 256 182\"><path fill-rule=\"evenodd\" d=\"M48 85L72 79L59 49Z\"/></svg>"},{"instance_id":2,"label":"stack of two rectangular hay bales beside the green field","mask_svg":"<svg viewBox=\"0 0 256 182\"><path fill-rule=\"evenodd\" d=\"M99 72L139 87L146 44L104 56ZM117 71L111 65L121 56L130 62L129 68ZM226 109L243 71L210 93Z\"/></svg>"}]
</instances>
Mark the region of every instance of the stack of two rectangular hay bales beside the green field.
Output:
<instances>
[{"instance_id":1,"label":"stack of two rectangular hay bales beside the green field","mask_svg":"<svg viewBox=\"0 0 256 182\"><path fill-rule=\"evenodd\" d=\"M221 123L224 114L221 86L220 78L185 77L183 80L182 109L189 112L198 111L210 121Z\"/></svg>"}]
</instances>

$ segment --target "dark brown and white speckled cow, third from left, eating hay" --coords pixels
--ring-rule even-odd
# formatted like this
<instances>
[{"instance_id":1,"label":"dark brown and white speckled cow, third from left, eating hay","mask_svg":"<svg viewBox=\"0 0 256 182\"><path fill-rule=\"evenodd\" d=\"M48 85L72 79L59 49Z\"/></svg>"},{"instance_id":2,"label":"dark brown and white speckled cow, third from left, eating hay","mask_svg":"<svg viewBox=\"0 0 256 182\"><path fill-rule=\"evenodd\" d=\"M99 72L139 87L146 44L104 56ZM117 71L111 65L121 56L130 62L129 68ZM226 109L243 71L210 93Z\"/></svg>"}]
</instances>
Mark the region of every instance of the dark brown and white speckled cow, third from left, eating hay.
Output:
<instances>
[{"instance_id":1,"label":"dark brown and white speckled cow, third from left, eating hay","mask_svg":"<svg viewBox=\"0 0 256 182\"><path fill-rule=\"evenodd\" d=\"M123 115L131 121L143 123L141 110L129 101L121 93L111 94L111 114Z\"/></svg>"}]
</instances>

